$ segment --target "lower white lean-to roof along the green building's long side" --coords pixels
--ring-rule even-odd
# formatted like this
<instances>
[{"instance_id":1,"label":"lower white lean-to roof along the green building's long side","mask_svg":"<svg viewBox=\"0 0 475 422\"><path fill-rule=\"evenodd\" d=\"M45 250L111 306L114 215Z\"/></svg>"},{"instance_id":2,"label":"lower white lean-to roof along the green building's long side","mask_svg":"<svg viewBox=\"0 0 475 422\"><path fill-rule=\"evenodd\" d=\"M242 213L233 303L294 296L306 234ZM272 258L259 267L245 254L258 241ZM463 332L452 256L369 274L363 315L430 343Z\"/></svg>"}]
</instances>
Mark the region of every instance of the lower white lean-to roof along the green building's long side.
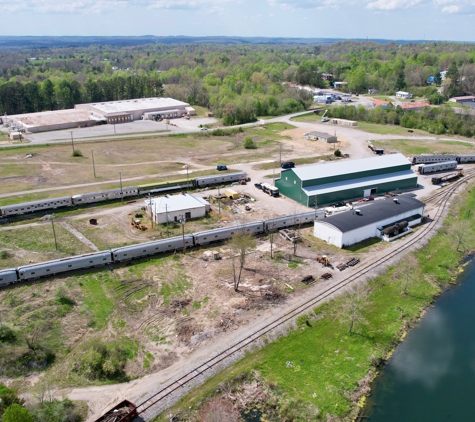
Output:
<instances>
[{"instance_id":1,"label":"lower white lean-to roof along the green building's long side","mask_svg":"<svg viewBox=\"0 0 475 422\"><path fill-rule=\"evenodd\" d=\"M308 195L323 195L325 193L338 192L341 190L362 188L368 185L377 186L381 183L398 182L416 177L412 170L400 171L397 173L380 174L377 176L361 177L353 181L342 180L340 182L327 183L325 185L307 186L302 190Z\"/></svg>"}]
</instances>

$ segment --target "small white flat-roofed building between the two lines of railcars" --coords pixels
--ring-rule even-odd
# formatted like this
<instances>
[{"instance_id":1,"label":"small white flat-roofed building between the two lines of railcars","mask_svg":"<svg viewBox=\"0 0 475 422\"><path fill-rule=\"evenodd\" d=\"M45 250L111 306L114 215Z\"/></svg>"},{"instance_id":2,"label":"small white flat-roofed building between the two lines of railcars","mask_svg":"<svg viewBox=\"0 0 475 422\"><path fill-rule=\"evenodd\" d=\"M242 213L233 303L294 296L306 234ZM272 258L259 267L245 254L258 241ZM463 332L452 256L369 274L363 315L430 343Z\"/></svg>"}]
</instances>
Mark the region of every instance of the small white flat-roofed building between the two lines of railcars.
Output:
<instances>
[{"instance_id":1,"label":"small white flat-roofed building between the two lines of railcars","mask_svg":"<svg viewBox=\"0 0 475 422\"><path fill-rule=\"evenodd\" d=\"M211 209L209 202L187 193L147 199L145 204L147 214L157 224L204 217Z\"/></svg>"}]
</instances>

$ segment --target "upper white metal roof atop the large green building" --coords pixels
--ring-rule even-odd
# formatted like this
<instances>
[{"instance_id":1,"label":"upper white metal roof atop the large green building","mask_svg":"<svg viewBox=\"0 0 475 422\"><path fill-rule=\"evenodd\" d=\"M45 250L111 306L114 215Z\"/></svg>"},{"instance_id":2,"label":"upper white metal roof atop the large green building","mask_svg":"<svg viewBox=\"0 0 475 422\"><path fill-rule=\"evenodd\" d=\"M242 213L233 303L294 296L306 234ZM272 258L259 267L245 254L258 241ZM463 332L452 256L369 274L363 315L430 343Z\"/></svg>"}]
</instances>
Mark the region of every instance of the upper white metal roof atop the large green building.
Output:
<instances>
[{"instance_id":1,"label":"upper white metal roof atop the large green building","mask_svg":"<svg viewBox=\"0 0 475 422\"><path fill-rule=\"evenodd\" d=\"M376 169L391 168L404 164L411 165L411 162L402 154L388 154L358 160L340 160L335 163L313 164L311 166L301 166L287 171L293 171L300 180L312 180L321 177L332 177L343 174L351 175ZM285 171L281 173L285 174Z\"/></svg>"}]
</instances>

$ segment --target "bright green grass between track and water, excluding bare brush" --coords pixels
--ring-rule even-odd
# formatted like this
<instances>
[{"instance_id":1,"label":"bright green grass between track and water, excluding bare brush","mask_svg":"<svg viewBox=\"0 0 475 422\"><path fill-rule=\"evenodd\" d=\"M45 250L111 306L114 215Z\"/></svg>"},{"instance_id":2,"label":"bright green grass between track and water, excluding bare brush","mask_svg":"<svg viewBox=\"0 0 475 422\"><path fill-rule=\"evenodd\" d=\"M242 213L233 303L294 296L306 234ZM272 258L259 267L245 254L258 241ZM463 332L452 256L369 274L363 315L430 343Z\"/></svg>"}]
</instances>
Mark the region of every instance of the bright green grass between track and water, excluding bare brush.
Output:
<instances>
[{"instance_id":1,"label":"bright green grass between track and water, excluding bare brush","mask_svg":"<svg viewBox=\"0 0 475 422\"><path fill-rule=\"evenodd\" d=\"M199 408L198 403L216 394L219 385L231 381L236 386L237 380L257 373L275 396L278 413L275 420L283 420L284 413L286 420L293 421L325 420L328 414L344 417L351 409L354 415L356 406L349 395L358 381L369 370L376 370L374 362L390 355L405 327L417 320L434 296L441 292L434 281L447 284L456 274L464 253L455 250L450 233L457 220L468 219L468 211L474 206L475 190L471 190L464 194L461 205L455 205L440 233L415 253L416 267L399 275L398 265L369 282L369 305L362 309L367 323L358 323L353 334L348 332L349 323L341 318L345 298L339 297L300 317L298 328L289 335L248 354L236 365L208 380L198 391L184 397L166 414L190 414L193 408ZM464 241L473 245L473 217L469 222ZM407 274L409 284L407 294L404 294ZM261 405L266 407L266 403ZM309 419L309 412L315 412L316 408L319 417ZM274 410L268 408L268 411ZM165 419L159 417L157 420Z\"/></svg>"}]
</instances>

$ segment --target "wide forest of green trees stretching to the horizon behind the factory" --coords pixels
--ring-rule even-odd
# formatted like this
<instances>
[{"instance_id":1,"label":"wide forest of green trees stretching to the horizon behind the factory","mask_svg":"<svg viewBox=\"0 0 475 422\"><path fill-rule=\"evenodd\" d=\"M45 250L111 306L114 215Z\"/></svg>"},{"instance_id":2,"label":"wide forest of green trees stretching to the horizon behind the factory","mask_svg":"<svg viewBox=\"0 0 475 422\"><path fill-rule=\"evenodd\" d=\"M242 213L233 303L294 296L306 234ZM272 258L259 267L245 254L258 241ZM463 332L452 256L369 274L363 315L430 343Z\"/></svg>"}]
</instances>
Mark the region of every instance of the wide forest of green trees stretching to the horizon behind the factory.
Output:
<instances>
[{"instance_id":1,"label":"wide forest of green trees stretching to the horizon behind the factory","mask_svg":"<svg viewBox=\"0 0 475 422\"><path fill-rule=\"evenodd\" d=\"M475 93L474 62L475 45L444 42L3 47L0 113L167 96L232 125L305 110L312 95L295 84L325 88L332 81L348 82L352 93L409 90L440 103ZM439 95L427 79L437 81L442 70L448 73Z\"/></svg>"}]
</instances>

